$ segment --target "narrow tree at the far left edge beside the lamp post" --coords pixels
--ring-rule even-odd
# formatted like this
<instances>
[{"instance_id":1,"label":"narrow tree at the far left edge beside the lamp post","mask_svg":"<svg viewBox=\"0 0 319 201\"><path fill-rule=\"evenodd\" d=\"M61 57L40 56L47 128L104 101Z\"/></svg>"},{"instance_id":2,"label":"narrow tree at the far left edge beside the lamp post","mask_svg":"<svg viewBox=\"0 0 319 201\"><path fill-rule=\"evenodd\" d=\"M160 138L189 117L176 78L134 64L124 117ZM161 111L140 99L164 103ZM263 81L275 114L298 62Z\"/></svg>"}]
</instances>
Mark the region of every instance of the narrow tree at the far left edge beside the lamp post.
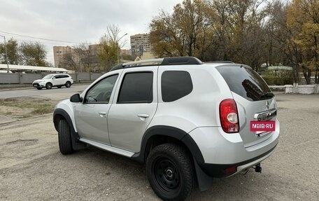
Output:
<instances>
[{"instance_id":1,"label":"narrow tree at the far left edge beside the lamp post","mask_svg":"<svg viewBox=\"0 0 319 201\"><path fill-rule=\"evenodd\" d=\"M21 57L19 54L19 46L15 39L11 38L6 43L6 48L4 43L0 43L0 60L1 63L6 63L6 49L8 53L8 63L9 64L20 64Z\"/></svg>"}]
</instances>

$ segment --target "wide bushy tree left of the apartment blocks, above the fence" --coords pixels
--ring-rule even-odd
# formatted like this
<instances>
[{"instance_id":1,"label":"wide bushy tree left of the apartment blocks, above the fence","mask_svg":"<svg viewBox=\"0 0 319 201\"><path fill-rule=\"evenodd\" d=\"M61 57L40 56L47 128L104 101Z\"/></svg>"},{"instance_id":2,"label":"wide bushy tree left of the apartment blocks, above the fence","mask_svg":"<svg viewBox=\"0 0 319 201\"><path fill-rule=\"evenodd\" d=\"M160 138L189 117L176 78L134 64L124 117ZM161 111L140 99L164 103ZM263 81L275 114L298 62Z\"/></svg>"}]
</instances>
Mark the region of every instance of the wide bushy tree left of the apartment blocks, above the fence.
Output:
<instances>
[{"instance_id":1,"label":"wide bushy tree left of the apartment blocks, above the fence","mask_svg":"<svg viewBox=\"0 0 319 201\"><path fill-rule=\"evenodd\" d=\"M45 46L39 42L23 42L20 53L24 65L44 67L47 64Z\"/></svg>"}]
</instances>

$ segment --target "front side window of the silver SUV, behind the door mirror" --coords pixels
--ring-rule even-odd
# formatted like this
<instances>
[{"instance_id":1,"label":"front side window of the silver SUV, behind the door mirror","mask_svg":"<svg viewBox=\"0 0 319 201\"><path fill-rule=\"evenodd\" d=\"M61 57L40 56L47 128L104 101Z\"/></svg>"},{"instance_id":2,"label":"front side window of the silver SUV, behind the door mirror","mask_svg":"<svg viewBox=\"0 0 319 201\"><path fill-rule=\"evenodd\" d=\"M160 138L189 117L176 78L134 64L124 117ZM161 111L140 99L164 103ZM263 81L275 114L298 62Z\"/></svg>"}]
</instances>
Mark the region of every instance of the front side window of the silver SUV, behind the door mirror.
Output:
<instances>
[{"instance_id":1,"label":"front side window of the silver SUV, behind the door mirror","mask_svg":"<svg viewBox=\"0 0 319 201\"><path fill-rule=\"evenodd\" d=\"M109 76L94 85L85 96L85 103L108 103L118 74Z\"/></svg>"}]
</instances>

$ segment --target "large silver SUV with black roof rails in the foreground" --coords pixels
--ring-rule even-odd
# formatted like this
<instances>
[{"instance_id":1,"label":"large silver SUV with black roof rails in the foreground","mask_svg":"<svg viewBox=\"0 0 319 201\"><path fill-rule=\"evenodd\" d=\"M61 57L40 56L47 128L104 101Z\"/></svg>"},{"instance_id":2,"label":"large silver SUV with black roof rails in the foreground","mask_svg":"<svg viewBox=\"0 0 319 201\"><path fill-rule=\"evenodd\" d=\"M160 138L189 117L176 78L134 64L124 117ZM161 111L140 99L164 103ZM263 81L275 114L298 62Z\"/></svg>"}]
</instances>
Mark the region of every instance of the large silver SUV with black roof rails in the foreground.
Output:
<instances>
[{"instance_id":1,"label":"large silver SUV with black roof rails in the foreground","mask_svg":"<svg viewBox=\"0 0 319 201\"><path fill-rule=\"evenodd\" d=\"M118 64L59 102L53 121L62 154L90 144L145 163L163 200L206 190L213 177L261 172L280 127L274 94L253 69L195 57ZM275 127L253 131L254 122Z\"/></svg>"}]
</instances>

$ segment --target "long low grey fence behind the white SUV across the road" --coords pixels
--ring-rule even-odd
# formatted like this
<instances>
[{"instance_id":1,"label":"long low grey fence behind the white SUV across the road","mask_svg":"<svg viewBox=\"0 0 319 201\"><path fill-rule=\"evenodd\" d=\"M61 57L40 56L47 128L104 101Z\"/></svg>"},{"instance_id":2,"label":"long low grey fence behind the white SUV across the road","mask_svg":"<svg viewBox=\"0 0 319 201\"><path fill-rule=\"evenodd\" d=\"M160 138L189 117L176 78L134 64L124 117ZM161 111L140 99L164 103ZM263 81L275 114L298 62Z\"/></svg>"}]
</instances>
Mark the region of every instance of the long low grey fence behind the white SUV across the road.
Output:
<instances>
[{"instance_id":1,"label":"long low grey fence behind the white SUV across the road","mask_svg":"<svg viewBox=\"0 0 319 201\"><path fill-rule=\"evenodd\" d=\"M35 80L43 78L48 73L42 74L8 74L8 73L0 73L0 84L30 84ZM76 73L69 74L73 81L81 82L81 81L95 81L99 76L103 74L99 73Z\"/></svg>"}]
</instances>

